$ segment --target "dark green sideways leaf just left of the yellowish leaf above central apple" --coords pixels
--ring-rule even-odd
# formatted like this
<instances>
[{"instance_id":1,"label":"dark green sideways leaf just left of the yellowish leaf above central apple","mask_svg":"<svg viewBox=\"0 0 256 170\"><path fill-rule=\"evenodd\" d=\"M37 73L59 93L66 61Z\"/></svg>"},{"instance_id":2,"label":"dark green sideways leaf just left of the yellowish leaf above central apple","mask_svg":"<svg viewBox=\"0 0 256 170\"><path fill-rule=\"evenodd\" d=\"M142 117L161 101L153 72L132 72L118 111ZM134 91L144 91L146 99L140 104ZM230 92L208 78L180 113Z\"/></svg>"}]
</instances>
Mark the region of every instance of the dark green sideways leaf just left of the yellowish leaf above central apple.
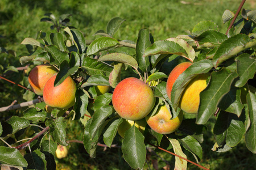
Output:
<instances>
[{"instance_id":1,"label":"dark green sideways leaf just left of the yellowish leaf above central apple","mask_svg":"<svg viewBox=\"0 0 256 170\"><path fill-rule=\"evenodd\" d=\"M90 57L84 58L84 61L82 62L82 68L85 69L89 75L109 75L113 70L113 67L110 67L105 63L98 62L98 59L92 59Z\"/></svg>"}]
</instances>

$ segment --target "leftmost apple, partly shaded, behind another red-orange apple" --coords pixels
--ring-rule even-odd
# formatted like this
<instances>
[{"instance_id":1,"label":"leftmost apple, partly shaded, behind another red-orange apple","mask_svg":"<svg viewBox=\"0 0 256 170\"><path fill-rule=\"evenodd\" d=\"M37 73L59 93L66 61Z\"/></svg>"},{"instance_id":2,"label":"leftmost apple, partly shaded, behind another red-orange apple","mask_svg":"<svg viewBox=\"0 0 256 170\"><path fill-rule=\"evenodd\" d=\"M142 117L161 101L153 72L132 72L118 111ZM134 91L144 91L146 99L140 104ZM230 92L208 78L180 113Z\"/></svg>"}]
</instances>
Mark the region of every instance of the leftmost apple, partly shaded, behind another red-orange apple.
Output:
<instances>
[{"instance_id":1,"label":"leftmost apple, partly shaded, behind another red-orange apple","mask_svg":"<svg viewBox=\"0 0 256 170\"><path fill-rule=\"evenodd\" d=\"M51 65L38 65L30 71L28 82L36 95L43 95L46 82L56 73L57 70Z\"/></svg>"}]
</instances>

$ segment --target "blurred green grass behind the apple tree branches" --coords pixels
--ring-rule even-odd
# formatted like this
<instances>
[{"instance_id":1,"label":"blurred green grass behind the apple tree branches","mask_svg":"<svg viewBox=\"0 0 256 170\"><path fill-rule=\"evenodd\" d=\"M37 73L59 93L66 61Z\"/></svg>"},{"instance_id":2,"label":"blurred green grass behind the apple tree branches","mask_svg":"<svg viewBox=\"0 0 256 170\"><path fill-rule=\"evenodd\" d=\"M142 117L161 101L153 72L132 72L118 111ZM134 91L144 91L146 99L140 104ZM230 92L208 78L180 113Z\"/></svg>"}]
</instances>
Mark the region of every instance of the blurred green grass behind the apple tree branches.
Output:
<instances>
[{"instance_id":1,"label":"blurred green grass behind the apple tree branches","mask_svg":"<svg viewBox=\"0 0 256 170\"><path fill-rule=\"evenodd\" d=\"M26 37L36 37L38 31L51 31L51 24L40 22L44 14L51 12L57 18L61 14L72 14L69 19L74 27L84 33L86 40L94 40L98 36L93 34L99 29L105 29L108 21L116 16L126 19L119 31L114 35L121 40L136 41L139 29L149 28L155 40L186 34L192 31L195 24L203 20L213 20L220 31L225 33L228 25L222 23L222 14L226 9L237 10L241 1L238 0L202 0L202 1L167 1L167 0L1 0L0 1L0 47L14 50L16 56L0 53L0 71L4 73L8 66L20 67L19 57L27 53L26 46L20 45ZM244 8L254 10L255 1L246 1ZM17 83L26 84L23 72L11 73L6 78ZM13 84L0 80L0 107L9 105L17 99L25 101L19 94L23 90ZM33 97L33 96L31 96ZM20 114L20 111L7 112L3 115ZM209 129L214 125L214 118L207 124ZM212 122L212 123L211 123ZM67 120L67 139L82 141L82 125L79 122ZM120 143L121 139L115 139ZM203 159L200 164L210 169L253 169L256 167L255 155L251 154L241 142L229 152L216 153L210 149L214 145L211 131L205 134L202 145ZM149 146L148 146L149 147ZM95 159L89 158L80 143L70 143L69 156L57 160L57 169L130 169L122 159L119 148L98 147ZM159 150L149 153L146 169L152 169L154 162L158 162L159 169L170 164L174 166L175 158ZM191 160L195 161L192 157ZM166 161L166 162L165 162ZM188 163L188 169L199 169Z\"/></svg>"}]
</instances>

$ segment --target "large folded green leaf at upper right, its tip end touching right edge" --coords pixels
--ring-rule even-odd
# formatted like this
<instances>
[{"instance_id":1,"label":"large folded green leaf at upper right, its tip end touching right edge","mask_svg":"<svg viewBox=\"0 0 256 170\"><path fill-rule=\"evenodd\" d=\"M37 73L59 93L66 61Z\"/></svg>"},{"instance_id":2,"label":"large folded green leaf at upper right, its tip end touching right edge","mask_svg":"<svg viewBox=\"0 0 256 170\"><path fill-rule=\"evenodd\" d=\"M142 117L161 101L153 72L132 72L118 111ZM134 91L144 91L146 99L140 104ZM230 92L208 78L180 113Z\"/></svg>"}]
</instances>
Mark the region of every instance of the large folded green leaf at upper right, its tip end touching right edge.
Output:
<instances>
[{"instance_id":1,"label":"large folded green leaf at upper right, its tip end touching right edge","mask_svg":"<svg viewBox=\"0 0 256 170\"><path fill-rule=\"evenodd\" d=\"M256 41L250 41L249 36L245 34L234 35L226 39L218 47L216 54L213 57L214 67L216 68L227 59L232 58L243 50L255 45Z\"/></svg>"}]
</instances>

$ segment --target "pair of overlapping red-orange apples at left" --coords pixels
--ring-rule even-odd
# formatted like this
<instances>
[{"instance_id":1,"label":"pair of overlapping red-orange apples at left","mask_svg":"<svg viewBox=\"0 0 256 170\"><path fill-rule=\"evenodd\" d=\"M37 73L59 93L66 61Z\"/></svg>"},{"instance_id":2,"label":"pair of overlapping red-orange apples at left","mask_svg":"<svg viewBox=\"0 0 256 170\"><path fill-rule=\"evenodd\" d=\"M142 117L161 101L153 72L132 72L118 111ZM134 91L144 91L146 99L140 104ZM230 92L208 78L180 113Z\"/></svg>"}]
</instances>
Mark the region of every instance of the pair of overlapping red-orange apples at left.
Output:
<instances>
[{"instance_id":1,"label":"pair of overlapping red-orange apples at left","mask_svg":"<svg viewBox=\"0 0 256 170\"><path fill-rule=\"evenodd\" d=\"M43 96L46 111L51 113L54 108L63 114L75 104L76 83L68 76L59 86L54 86L57 70L52 65L38 65L28 76L28 82L35 94Z\"/></svg>"}]
</instances>

